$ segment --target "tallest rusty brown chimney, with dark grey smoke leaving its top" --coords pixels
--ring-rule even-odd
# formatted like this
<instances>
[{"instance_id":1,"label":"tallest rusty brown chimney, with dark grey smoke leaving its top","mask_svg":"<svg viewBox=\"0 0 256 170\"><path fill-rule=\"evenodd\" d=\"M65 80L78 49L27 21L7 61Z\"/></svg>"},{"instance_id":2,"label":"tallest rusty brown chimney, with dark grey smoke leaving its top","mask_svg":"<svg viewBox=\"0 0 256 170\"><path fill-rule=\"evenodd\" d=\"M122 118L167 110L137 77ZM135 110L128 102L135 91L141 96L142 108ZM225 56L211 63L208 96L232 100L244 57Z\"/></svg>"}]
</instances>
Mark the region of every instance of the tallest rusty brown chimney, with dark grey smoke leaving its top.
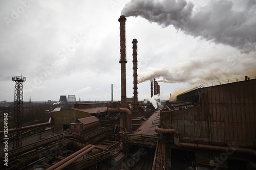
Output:
<instances>
[{"instance_id":1,"label":"tallest rusty brown chimney, with dark grey smoke leaving its top","mask_svg":"<svg viewBox=\"0 0 256 170\"><path fill-rule=\"evenodd\" d=\"M126 103L126 52L125 52L125 21L126 18L124 15L121 15L118 19L120 22L120 60L121 64L121 108L127 108Z\"/></svg>"}]
</instances>

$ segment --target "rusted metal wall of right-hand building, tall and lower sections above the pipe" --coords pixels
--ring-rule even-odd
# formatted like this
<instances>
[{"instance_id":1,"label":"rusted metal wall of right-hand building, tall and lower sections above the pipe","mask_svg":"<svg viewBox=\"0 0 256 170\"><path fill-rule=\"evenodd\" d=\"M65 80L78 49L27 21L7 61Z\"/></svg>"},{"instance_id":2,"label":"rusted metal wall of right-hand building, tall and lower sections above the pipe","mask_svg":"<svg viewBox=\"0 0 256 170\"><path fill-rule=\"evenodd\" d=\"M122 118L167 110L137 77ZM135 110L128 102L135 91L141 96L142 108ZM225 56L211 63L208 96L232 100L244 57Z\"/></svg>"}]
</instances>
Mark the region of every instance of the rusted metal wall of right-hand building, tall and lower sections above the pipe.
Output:
<instances>
[{"instance_id":1,"label":"rusted metal wall of right-hand building, tall and lower sections above the pipe","mask_svg":"<svg viewBox=\"0 0 256 170\"><path fill-rule=\"evenodd\" d=\"M163 125L171 122L181 138L256 147L255 87L254 79L201 88L199 107L165 112Z\"/></svg>"}]
</instances>

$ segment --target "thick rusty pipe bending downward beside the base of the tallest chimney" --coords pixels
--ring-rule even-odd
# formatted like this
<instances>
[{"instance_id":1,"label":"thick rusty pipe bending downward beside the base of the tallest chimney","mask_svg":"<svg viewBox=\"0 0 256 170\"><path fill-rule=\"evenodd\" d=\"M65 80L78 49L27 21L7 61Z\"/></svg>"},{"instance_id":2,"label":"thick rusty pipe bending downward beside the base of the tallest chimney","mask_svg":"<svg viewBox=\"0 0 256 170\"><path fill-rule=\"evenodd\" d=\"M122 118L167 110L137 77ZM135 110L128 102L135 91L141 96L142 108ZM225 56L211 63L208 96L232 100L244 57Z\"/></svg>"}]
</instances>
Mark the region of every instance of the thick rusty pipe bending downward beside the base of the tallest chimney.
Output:
<instances>
[{"instance_id":1,"label":"thick rusty pipe bending downward beside the base of the tallest chimney","mask_svg":"<svg viewBox=\"0 0 256 170\"><path fill-rule=\"evenodd\" d=\"M123 114L121 114L120 117L120 132L123 132L124 128L127 129L128 132L132 132L132 118L133 118L133 114L131 112L131 110L127 109L127 108L118 108L118 109L108 109L109 112L124 112L125 116L126 116L126 127L124 127L124 116Z\"/></svg>"}]
</instances>

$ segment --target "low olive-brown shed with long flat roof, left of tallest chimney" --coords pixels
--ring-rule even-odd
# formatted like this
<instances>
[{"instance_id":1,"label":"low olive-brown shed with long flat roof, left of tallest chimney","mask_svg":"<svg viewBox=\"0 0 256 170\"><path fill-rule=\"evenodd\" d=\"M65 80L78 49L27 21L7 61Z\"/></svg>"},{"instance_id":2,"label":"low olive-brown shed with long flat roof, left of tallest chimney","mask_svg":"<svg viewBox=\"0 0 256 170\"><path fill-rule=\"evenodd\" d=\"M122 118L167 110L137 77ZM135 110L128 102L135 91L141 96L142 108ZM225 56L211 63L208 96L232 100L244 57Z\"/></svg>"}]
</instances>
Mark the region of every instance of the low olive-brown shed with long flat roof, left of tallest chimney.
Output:
<instances>
[{"instance_id":1,"label":"low olive-brown shed with long flat roof, left of tallest chimney","mask_svg":"<svg viewBox=\"0 0 256 170\"><path fill-rule=\"evenodd\" d=\"M77 119L95 116L104 119L108 109L106 103L79 103L74 108L53 113L53 128L55 132L70 129L71 123Z\"/></svg>"}]
</instances>

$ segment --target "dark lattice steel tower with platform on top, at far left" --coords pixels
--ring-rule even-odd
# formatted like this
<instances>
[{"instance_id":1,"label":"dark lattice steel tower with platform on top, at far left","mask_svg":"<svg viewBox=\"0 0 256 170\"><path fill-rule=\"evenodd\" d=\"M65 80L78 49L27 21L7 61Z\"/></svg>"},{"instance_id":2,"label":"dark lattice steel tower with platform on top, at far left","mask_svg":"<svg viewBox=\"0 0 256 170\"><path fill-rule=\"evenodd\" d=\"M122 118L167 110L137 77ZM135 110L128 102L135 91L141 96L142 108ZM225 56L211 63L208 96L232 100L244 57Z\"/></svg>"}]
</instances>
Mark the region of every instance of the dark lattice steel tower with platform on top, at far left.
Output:
<instances>
[{"instance_id":1,"label":"dark lattice steel tower with platform on top, at far left","mask_svg":"<svg viewBox=\"0 0 256 170\"><path fill-rule=\"evenodd\" d=\"M22 146L23 82L26 81L26 77L15 76L12 77L12 81L15 82L13 148L18 148Z\"/></svg>"}]
</instances>

